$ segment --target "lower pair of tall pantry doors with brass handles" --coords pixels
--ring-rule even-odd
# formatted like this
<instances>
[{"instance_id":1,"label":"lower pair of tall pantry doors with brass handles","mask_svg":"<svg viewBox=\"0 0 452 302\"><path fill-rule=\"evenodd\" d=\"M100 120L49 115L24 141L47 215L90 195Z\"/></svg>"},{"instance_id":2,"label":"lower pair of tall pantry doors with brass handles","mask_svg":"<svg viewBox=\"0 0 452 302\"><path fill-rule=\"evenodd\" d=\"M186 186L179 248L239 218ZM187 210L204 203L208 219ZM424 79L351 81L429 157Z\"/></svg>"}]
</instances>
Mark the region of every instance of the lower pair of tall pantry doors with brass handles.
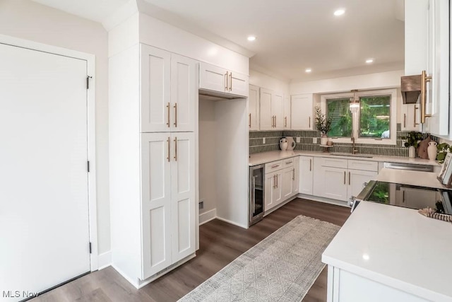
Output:
<instances>
[{"instance_id":1,"label":"lower pair of tall pantry doors with brass handles","mask_svg":"<svg viewBox=\"0 0 452 302\"><path fill-rule=\"evenodd\" d=\"M146 279L195 252L194 133L141 134L141 240Z\"/></svg>"}]
</instances>

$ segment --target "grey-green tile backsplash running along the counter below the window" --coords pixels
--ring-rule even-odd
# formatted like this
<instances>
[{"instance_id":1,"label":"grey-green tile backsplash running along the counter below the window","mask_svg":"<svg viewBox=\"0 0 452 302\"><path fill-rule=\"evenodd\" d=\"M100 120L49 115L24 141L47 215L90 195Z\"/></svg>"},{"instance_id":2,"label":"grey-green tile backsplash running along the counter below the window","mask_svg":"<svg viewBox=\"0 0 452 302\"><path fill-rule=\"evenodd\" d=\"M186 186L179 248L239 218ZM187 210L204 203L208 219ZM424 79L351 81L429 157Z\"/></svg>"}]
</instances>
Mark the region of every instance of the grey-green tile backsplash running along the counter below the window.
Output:
<instances>
[{"instance_id":1,"label":"grey-green tile backsplash running along the counter below the window","mask_svg":"<svg viewBox=\"0 0 452 302\"><path fill-rule=\"evenodd\" d=\"M400 129L400 124L397 125ZM405 156L408 157L408 148L403 146L402 137L408 135L409 132L397 131L396 145L376 145L376 144L356 144L358 153L373 154L382 156ZM424 134L424 139L429 134ZM284 130L284 131L256 131L249 132L249 153L259 153L266 151L276 151L280 149L281 137L294 137L294 140L299 137L300 142L295 146L295 150L304 151L323 151L320 146L320 132L311 130ZM312 139L316 137L317 143L314 144ZM434 141L438 141L438 137L431 135ZM266 144L263 144L263 138L266 139ZM347 143L333 143L333 148L330 152L352 153L352 142Z\"/></svg>"}]
</instances>

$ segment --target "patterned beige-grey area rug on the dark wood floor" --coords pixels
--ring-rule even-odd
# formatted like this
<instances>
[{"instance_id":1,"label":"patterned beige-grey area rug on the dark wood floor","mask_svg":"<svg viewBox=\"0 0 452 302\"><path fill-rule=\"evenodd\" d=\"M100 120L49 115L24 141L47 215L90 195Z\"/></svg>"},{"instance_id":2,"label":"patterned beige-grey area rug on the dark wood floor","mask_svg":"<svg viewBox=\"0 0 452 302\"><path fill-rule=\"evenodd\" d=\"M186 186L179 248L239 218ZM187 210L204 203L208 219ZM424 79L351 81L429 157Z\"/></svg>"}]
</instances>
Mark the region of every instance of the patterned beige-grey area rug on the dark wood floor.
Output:
<instances>
[{"instance_id":1,"label":"patterned beige-grey area rug on the dark wood floor","mask_svg":"<svg viewBox=\"0 0 452 302\"><path fill-rule=\"evenodd\" d=\"M339 226L297 216L179 301L301 301Z\"/></svg>"}]
</instances>

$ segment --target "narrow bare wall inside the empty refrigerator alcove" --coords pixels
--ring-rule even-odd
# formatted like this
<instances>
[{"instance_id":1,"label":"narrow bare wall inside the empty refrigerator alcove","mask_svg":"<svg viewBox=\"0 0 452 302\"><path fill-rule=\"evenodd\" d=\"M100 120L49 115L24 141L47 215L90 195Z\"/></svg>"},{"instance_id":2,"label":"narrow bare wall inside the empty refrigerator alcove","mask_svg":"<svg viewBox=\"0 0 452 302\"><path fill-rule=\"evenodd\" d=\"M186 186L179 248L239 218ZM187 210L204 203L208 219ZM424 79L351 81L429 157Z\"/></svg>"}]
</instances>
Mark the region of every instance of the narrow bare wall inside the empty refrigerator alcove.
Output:
<instances>
[{"instance_id":1,"label":"narrow bare wall inside the empty refrigerator alcove","mask_svg":"<svg viewBox=\"0 0 452 302\"><path fill-rule=\"evenodd\" d=\"M204 199L204 209L199 214L217 207L215 103L199 98L199 199Z\"/></svg>"}]
</instances>

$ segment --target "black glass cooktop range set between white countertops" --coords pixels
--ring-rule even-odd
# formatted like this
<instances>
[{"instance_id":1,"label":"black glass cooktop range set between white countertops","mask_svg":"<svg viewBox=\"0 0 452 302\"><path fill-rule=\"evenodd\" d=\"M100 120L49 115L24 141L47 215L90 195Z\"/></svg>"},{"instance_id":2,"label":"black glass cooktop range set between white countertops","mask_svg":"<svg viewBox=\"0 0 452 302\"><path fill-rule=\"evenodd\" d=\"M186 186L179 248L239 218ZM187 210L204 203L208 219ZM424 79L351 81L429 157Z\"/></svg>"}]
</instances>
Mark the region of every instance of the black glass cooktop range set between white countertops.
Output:
<instances>
[{"instance_id":1,"label":"black glass cooktop range set between white countertops","mask_svg":"<svg viewBox=\"0 0 452 302\"><path fill-rule=\"evenodd\" d=\"M439 213L452 214L452 190L402 185L371 180L357 197L350 199L352 211L359 202L379 202L410 209L430 207Z\"/></svg>"}]
</instances>

